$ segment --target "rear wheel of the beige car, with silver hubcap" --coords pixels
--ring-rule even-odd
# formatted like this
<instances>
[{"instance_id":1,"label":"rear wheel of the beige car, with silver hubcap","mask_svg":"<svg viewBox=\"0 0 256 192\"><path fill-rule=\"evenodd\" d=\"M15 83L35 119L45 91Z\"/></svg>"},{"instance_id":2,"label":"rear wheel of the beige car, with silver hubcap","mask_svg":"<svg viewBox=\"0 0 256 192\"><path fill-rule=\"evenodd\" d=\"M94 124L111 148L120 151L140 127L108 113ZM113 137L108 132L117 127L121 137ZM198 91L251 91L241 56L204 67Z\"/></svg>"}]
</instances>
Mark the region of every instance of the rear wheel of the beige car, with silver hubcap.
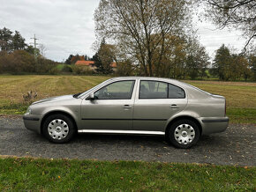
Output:
<instances>
[{"instance_id":1,"label":"rear wheel of the beige car, with silver hubcap","mask_svg":"<svg viewBox=\"0 0 256 192\"><path fill-rule=\"evenodd\" d=\"M200 128L191 120L178 120L170 125L165 137L175 147L187 149L199 141Z\"/></svg>"}]
</instances>

